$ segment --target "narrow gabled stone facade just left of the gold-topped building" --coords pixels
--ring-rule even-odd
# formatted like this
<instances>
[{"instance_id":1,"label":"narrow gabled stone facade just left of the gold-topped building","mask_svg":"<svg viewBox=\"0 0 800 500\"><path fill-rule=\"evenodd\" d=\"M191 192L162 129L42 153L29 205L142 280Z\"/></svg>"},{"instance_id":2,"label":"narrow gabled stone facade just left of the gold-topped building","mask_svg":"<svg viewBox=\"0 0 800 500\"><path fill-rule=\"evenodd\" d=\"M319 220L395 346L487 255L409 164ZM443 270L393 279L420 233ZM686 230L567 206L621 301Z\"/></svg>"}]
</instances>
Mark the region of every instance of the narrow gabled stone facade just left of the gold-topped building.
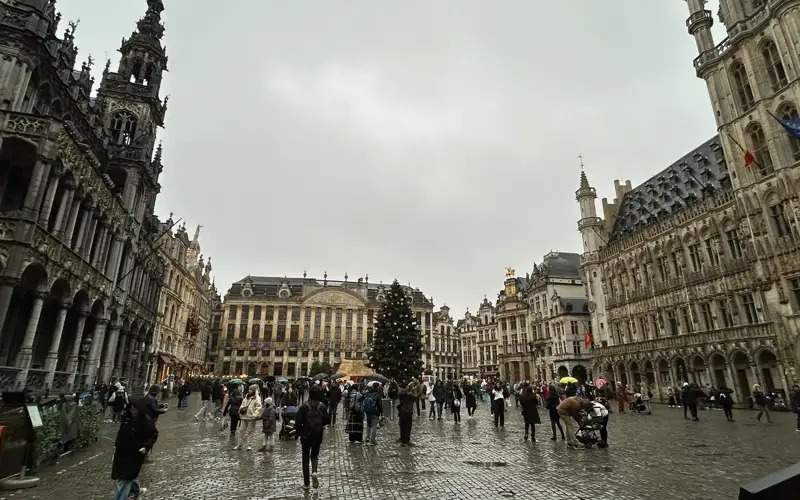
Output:
<instances>
[{"instance_id":1,"label":"narrow gabled stone facade just left of the gold-topped building","mask_svg":"<svg viewBox=\"0 0 800 500\"><path fill-rule=\"evenodd\" d=\"M478 379L493 378L497 371L497 321L492 303L483 298L478 313L469 311L456 323L461 344L461 374Z\"/></svg>"}]
</instances>

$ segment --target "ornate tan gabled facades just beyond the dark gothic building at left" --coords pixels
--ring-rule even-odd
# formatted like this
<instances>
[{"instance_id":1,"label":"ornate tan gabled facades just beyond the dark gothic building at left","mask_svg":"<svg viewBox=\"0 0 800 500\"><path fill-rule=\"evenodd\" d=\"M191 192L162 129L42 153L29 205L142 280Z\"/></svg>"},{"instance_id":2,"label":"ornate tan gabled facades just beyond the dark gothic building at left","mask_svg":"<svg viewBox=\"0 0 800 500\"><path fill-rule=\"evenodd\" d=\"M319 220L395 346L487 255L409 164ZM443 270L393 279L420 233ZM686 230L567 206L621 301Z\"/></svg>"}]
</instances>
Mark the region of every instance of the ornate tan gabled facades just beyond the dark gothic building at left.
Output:
<instances>
[{"instance_id":1,"label":"ornate tan gabled facades just beyond the dark gothic building at left","mask_svg":"<svg viewBox=\"0 0 800 500\"><path fill-rule=\"evenodd\" d=\"M190 240L184 226L173 232L173 225L172 218L161 225L165 236L158 253L165 263L165 280L159 294L150 382L205 372L210 342L216 295L211 258L205 262L200 253L200 226Z\"/></svg>"}]
</instances>

